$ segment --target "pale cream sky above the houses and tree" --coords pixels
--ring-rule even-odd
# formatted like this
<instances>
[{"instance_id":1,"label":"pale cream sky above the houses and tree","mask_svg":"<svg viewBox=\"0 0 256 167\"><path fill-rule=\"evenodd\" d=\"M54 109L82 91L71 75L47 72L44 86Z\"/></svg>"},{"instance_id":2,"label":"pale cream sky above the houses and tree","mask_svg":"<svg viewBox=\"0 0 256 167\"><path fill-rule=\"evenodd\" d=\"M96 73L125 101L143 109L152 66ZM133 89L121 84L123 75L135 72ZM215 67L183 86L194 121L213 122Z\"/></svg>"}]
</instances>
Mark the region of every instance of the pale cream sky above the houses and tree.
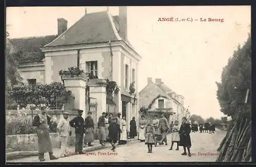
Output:
<instances>
[{"instance_id":1,"label":"pale cream sky above the houses and tree","mask_svg":"<svg viewBox=\"0 0 256 167\"><path fill-rule=\"evenodd\" d=\"M68 20L69 28L86 8L87 13L106 11L106 7L9 7L7 31L10 38L55 35L57 18ZM109 7L109 11L118 15L118 7ZM159 17L193 21L158 21ZM208 18L224 22L208 22ZM147 77L162 78L165 85L184 96L191 115L223 117L215 82L221 80L233 51L246 41L250 22L250 6L127 7L128 39L142 57L139 91L147 85Z\"/></svg>"}]
</instances>

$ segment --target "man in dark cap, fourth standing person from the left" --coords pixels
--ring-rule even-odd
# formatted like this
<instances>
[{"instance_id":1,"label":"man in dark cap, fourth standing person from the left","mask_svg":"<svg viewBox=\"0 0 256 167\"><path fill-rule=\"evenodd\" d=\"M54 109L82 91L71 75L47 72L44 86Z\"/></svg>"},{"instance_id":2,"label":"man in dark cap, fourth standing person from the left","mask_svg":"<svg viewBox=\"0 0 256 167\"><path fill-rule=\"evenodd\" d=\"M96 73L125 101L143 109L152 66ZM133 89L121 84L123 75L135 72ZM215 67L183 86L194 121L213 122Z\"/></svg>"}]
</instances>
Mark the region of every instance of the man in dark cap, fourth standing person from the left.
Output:
<instances>
[{"instance_id":1,"label":"man in dark cap, fourth standing person from the left","mask_svg":"<svg viewBox=\"0 0 256 167\"><path fill-rule=\"evenodd\" d=\"M84 130L85 135L83 139L84 144L88 144L88 147L92 147L92 142L94 142L94 122L92 119L92 112L88 112L88 116L84 119Z\"/></svg>"}]
</instances>

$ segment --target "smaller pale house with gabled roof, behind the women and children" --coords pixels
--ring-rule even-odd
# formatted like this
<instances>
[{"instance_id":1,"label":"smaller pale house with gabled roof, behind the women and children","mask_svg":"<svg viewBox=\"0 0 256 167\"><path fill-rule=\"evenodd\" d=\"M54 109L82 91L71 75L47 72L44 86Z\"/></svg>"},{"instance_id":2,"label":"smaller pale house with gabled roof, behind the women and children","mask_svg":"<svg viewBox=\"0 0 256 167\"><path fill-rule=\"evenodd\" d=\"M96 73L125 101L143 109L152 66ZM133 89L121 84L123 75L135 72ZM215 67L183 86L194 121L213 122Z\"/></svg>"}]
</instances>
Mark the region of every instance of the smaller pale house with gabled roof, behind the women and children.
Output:
<instances>
[{"instance_id":1,"label":"smaller pale house with gabled roof, behind the women and children","mask_svg":"<svg viewBox=\"0 0 256 167\"><path fill-rule=\"evenodd\" d=\"M147 86L139 93L139 107L144 107L150 112L169 113L169 123L178 120L181 123L182 117L186 115L184 97L169 89L161 78L155 82L151 77L147 78Z\"/></svg>"}]
</instances>

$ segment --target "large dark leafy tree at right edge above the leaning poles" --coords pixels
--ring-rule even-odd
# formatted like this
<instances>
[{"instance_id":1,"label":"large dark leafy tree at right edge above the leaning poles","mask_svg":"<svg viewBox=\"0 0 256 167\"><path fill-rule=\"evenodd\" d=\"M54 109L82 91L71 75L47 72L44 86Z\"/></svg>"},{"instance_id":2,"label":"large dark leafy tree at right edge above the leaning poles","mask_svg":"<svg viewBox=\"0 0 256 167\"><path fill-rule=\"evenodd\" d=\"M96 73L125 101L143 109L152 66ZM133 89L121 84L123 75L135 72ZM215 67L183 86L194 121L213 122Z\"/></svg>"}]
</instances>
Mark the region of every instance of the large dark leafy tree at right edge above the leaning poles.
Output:
<instances>
[{"instance_id":1,"label":"large dark leafy tree at right edge above the leaning poles","mask_svg":"<svg viewBox=\"0 0 256 167\"><path fill-rule=\"evenodd\" d=\"M234 116L238 111L250 113L251 106L251 36L249 35L244 46L234 51L228 64L223 68L221 82L218 86L217 98L221 112L227 116ZM245 105L247 89L249 96Z\"/></svg>"}]
</instances>

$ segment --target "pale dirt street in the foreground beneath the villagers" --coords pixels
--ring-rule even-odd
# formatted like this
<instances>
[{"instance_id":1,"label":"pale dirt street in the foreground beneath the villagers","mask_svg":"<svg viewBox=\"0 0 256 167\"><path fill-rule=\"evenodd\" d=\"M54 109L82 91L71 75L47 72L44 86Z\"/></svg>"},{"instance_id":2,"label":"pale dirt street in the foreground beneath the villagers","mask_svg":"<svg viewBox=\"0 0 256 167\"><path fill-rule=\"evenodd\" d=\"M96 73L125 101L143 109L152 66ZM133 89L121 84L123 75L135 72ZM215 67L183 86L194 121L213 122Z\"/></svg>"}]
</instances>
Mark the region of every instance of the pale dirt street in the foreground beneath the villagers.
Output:
<instances>
[{"instance_id":1,"label":"pale dirt street in the foreground beneath the villagers","mask_svg":"<svg viewBox=\"0 0 256 167\"><path fill-rule=\"evenodd\" d=\"M56 160L46 160L45 162L175 162L175 161L215 161L218 157L217 149L225 136L225 131L216 129L215 134L190 133L192 156L181 155L183 147L176 151L176 143L173 150L170 147L170 135L167 136L168 145L153 146L153 153L147 153L147 146L144 143L127 144L116 148L112 152L111 148L95 150L83 155L73 155ZM72 154L70 152L69 154ZM200 154L200 155L199 155ZM211 155L210 155L211 154ZM31 162L29 157L10 160L8 162Z\"/></svg>"}]
</instances>

